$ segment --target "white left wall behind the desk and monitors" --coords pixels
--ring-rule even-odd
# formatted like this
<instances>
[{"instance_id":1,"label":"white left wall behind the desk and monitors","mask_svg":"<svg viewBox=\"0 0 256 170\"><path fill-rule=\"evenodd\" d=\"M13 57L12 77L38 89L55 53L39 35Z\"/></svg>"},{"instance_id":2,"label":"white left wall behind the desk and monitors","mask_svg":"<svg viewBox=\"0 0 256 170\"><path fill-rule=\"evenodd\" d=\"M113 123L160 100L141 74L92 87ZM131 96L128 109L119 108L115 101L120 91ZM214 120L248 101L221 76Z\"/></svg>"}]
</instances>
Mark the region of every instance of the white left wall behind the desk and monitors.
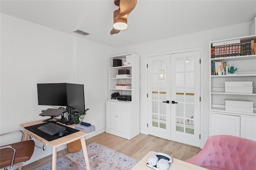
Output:
<instances>
[{"instance_id":1,"label":"white left wall behind the desk and monitors","mask_svg":"<svg viewBox=\"0 0 256 170\"><path fill-rule=\"evenodd\" d=\"M20 124L40 117L37 83L81 83L89 108L86 122L105 131L108 96L108 56L116 50L84 38L1 14L1 112L0 133L23 130ZM99 50L100 49L100 50ZM1 138L1 145L10 138ZM42 144L36 141L36 145ZM35 148L26 164L51 154Z\"/></svg>"}]
</instances>

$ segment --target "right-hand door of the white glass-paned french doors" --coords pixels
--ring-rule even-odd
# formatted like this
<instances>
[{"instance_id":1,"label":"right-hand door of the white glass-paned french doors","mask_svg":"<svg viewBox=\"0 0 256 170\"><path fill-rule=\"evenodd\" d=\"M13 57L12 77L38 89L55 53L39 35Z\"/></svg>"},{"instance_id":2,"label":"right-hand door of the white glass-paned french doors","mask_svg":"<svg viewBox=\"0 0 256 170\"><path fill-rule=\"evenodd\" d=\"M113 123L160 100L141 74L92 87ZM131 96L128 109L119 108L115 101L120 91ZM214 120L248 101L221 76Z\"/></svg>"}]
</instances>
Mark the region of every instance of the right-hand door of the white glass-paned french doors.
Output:
<instances>
[{"instance_id":1,"label":"right-hand door of the white glass-paned french doors","mask_svg":"<svg viewBox=\"0 0 256 170\"><path fill-rule=\"evenodd\" d=\"M200 51L171 55L172 140L200 146Z\"/></svg>"}]
</instances>

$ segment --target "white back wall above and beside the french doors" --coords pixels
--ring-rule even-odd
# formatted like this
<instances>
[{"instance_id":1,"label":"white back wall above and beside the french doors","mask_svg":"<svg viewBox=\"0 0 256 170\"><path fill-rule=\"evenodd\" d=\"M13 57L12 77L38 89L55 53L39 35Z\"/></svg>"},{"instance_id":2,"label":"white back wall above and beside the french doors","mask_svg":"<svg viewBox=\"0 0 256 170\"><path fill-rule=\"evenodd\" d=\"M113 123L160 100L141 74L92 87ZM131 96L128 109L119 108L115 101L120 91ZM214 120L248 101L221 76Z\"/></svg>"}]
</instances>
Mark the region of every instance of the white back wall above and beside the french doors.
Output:
<instances>
[{"instance_id":1,"label":"white back wall above and beside the french doors","mask_svg":"<svg viewBox=\"0 0 256 170\"><path fill-rule=\"evenodd\" d=\"M203 143L205 143L209 135L209 42L249 35L250 22L118 48L116 55L120 53L136 53L140 55L140 132L147 133L148 123L146 113L146 55L203 48L203 56L201 56L201 84L203 84L201 87L201 101L203 109L201 113L204 116L204 127L201 127L203 130L201 136L203 136Z\"/></svg>"}]
</instances>

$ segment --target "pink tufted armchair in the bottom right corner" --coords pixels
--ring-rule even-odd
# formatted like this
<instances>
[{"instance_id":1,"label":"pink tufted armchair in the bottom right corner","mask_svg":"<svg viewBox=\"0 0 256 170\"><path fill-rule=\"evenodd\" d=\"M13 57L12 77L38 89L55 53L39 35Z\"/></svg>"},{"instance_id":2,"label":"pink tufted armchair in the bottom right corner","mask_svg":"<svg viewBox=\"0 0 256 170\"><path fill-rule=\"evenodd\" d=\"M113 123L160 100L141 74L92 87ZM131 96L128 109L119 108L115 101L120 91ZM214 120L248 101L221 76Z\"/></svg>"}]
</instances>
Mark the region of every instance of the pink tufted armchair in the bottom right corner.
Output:
<instances>
[{"instance_id":1,"label":"pink tufted armchair in the bottom right corner","mask_svg":"<svg viewBox=\"0 0 256 170\"><path fill-rule=\"evenodd\" d=\"M202 150L186 162L210 170L256 170L256 142L230 135L210 136Z\"/></svg>"}]
</instances>

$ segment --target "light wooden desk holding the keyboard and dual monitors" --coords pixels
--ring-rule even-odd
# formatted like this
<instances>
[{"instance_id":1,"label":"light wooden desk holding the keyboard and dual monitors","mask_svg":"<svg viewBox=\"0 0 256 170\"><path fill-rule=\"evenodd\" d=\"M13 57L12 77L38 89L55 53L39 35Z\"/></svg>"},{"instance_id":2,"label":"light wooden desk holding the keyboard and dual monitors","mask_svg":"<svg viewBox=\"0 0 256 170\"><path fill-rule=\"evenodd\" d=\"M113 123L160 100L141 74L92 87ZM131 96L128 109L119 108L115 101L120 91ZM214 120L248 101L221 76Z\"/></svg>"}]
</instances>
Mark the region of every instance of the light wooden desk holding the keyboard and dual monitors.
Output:
<instances>
[{"instance_id":1,"label":"light wooden desk holding the keyboard and dual monitors","mask_svg":"<svg viewBox=\"0 0 256 170\"><path fill-rule=\"evenodd\" d=\"M43 121L35 121L35 122L30 122L30 123L23 123L20 126L21 127L29 127L32 125L38 125L41 123L45 123ZM75 125L65 125L71 128L75 128ZM52 141L48 141L40 136L38 136L37 134L34 134L33 132L27 130L26 128L24 129L24 138L23 140L28 140L28 135L30 134L31 136L33 136L36 140L38 140L39 142L41 142L44 145L49 145L52 147L52 170L56 170L56 159L57 159L57 148L60 146L63 146L65 144L68 144L70 142L73 142L75 140L81 140L81 144L82 144L82 149L84 152L84 159L85 159L85 163L86 163L86 168L87 170L90 170L90 163L89 163L89 159L88 159L88 154L87 154L87 149L86 149L86 143L85 143L85 139L84 136L88 135L88 133L86 132L75 132L73 134L69 134L67 136L64 136L62 138L58 138L56 140L52 140ZM19 170L21 170L22 168L22 164L19 165Z\"/></svg>"}]
</instances>

